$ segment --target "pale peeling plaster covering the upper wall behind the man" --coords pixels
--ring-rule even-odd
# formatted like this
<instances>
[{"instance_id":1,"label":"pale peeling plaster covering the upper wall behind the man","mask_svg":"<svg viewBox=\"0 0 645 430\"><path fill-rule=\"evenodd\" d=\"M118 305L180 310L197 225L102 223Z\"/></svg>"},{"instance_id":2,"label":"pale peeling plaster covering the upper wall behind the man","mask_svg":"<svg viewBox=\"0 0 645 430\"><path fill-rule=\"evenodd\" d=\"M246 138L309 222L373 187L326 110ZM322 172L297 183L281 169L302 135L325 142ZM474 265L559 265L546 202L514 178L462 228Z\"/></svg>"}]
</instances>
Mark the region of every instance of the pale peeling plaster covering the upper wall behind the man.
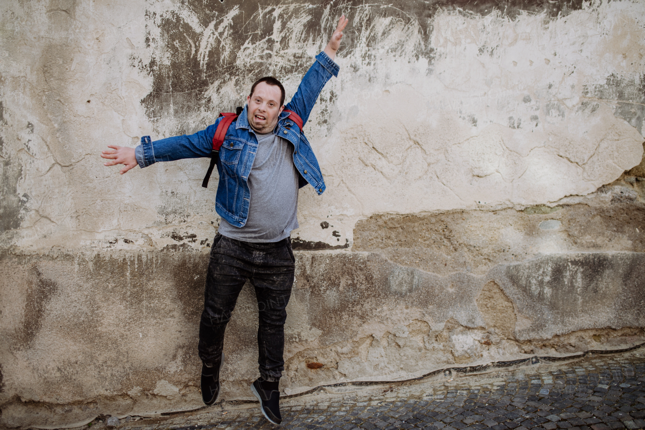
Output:
<instances>
[{"instance_id":1,"label":"pale peeling plaster covering the upper wall behind the man","mask_svg":"<svg viewBox=\"0 0 645 430\"><path fill-rule=\"evenodd\" d=\"M0 70L2 156L22 169L8 198L29 201L18 218L17 200L3 207L12 234L0 240L37 249L74 234L106 246L142 232L162 249L166 224L204 249L217 223L214 192L199 186L207 160L119 177L96 169L95 154L206 127L259 76L293 94L341 10L352 17L341 74L305 127L328 191L303 189L293 238L351 247L355 223L372 214L553 203L637 165L643 5L500 5L209 1L124 3L114 14L9 3L3 46L19 61ZM317 227L325 220L340 237Z\"/></svg>"}]
</instances>

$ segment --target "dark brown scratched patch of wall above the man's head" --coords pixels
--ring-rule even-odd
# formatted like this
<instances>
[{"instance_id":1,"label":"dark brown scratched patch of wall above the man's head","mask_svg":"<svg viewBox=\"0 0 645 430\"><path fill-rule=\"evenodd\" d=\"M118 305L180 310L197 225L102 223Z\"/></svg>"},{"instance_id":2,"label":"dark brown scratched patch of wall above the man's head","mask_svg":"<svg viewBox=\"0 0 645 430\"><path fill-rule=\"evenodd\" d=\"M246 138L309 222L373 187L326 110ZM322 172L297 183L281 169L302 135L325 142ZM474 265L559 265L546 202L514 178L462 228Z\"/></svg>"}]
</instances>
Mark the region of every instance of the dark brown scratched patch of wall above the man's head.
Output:
<instances>
[{"instance_id":1,"label":"dark brown scratched patch of wall above the man's head","mask_svg":"<svg viewBox=\"0 0 645 430\"><path fill-rule=\"evenodd\" d=\"M164 133L204 127L215 118L215 110L243 104L251 83L261 76L284 79L293 94L341 13L354 21L344 46L345 55L357 53L354 70L373 66L388 52L419 59L427 45L414 15L423 9L420 2L401 7L219 1L188 2L174 10L149 6L146 40L153 54L145 64L133 58L133 65L138 63L154 79L143 103Z\"/></svg>"}]
</instances>

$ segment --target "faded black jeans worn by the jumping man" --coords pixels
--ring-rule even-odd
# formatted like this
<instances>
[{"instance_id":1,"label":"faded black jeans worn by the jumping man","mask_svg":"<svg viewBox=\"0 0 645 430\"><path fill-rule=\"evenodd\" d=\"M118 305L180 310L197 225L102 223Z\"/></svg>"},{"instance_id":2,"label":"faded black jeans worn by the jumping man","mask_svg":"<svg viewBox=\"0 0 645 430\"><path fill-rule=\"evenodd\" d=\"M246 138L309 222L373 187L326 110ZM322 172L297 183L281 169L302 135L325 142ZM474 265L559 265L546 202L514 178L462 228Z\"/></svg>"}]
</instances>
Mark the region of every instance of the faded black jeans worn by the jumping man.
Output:
<instances>
[{"instance_id":1,"label":"faded black jeans worn by the jumping man","mask_svg":"<svg viewBox=\"0 0 645 430\"><path fill-rule=\"evenodd\" d=\"M248 280L255 287L259 311L257 329L260 374L277 381L284 370L284 321L289 303L295 258L291 239L251 243L217 234L206 273L204 311L199 323L199 358L219 363L226 324L237 296Z\"/></svg>"}]
</instances>

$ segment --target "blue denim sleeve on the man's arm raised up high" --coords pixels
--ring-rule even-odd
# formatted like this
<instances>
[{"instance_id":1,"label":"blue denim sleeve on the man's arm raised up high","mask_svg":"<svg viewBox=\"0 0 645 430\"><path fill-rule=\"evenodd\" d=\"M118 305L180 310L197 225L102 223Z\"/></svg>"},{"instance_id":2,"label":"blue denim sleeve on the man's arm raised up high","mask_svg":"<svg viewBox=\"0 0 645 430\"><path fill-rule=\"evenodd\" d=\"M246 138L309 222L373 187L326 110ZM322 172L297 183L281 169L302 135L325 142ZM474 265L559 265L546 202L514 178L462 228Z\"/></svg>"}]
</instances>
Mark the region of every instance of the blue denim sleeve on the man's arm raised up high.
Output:
<instances>
[{"instance_id":1,"label":"blue denim sleeve on the man's arm raised up high","mask_svg":"<svg viewBox=\"0 0 645 430\"><path fill-rule=\"evenodd\" d=\"M313 105L318 100L324 85L333 76L338 76L338 65L325 54L321 52L316 56L312 67L307 70L303 80L298 86L298 90L293 94L293 98L284 107L293 110L300 118L303 119L303 125L306 124L311 114ZM286 114L284 114L286 116Z\"/></svg>"}]
</instances>

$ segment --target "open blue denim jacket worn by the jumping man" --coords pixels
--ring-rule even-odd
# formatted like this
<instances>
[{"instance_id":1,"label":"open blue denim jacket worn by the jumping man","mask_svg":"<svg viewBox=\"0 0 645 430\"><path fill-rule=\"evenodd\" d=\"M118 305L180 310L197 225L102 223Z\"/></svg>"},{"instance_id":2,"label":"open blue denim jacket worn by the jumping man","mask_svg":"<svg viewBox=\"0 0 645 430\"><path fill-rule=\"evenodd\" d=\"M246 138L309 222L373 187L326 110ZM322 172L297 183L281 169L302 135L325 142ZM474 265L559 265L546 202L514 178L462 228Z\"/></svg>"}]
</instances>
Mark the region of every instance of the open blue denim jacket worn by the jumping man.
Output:
<instances>
[{"instance_id":1,"label":"open blue denim jacket worn by the jumping man","mask_svg":"<svg viewBox=\"0 0 645 430\"><path fill-rule=\"evenodd\" d=\"M333 76L338 76L339 67L324 52L316 56L312 67L304 75L291 101L284 107L293 110L307 122L313 105L323 90L324 85ZM248 218L250 192L247 183L248 174L253 166L257 151L257 138L248 123L247 106L229 127L224 143L219 150L217 171L219 183L215 195L217 214L235 227L243 227ZM293 164L300 174L299 187L310 183L318 194L325 190L323 174L304 133L282 112L273 133L287 139L293 144ZM135 154L140 167L148 167L157 161L174 161L182 158L208 157L213 148L213 136L221 118L191 136L175 136L152 142L150 136L141 138L141 145Z\"/></svg>"}]
</instances>

